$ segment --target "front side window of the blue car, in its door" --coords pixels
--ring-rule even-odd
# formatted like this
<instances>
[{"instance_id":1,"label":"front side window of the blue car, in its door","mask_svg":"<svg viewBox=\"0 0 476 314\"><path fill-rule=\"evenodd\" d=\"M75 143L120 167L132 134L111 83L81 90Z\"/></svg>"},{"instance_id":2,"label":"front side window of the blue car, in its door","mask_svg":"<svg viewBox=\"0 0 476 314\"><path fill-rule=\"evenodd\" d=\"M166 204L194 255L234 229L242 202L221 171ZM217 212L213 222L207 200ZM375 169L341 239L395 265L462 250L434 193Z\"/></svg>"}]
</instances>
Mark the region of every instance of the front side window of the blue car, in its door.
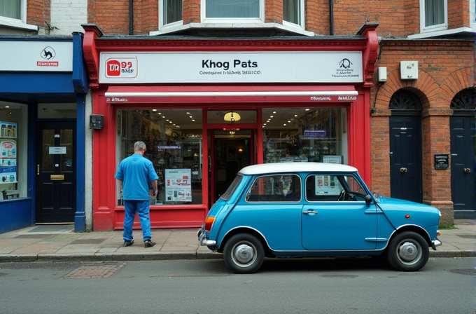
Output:
<instances>
[{"instance_id":1,"label":"front side window of the blue car, in its door","mask_svg":"<svg viewBox=\"0 0 476 314\"><path fill-rule=\"evenodd\" d=\"M363 200L365 190L356 178L347 175L310 175L306 178L309 201Z\"/></svg>"}]
</instances>

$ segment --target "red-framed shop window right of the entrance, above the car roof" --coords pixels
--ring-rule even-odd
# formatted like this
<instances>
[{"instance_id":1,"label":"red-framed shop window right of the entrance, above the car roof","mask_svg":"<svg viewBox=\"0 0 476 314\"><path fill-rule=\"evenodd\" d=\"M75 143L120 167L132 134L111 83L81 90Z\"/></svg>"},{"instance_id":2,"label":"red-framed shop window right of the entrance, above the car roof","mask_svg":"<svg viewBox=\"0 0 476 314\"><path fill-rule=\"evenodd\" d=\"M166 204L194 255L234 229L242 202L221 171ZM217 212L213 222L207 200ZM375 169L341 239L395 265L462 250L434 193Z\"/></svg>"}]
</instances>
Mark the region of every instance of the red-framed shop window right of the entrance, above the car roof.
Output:
<instances>
[{"instance_id":1,"label":"red-framed shop window right of the entrance, above the car roof","mask_svg":"<svg viewBox=\"0 0 476 314\"><path fill-rule=\"evenodd\" d=\"M346 163L346 110L263 109L265 163Z\"/></svg>"}]
</instances>

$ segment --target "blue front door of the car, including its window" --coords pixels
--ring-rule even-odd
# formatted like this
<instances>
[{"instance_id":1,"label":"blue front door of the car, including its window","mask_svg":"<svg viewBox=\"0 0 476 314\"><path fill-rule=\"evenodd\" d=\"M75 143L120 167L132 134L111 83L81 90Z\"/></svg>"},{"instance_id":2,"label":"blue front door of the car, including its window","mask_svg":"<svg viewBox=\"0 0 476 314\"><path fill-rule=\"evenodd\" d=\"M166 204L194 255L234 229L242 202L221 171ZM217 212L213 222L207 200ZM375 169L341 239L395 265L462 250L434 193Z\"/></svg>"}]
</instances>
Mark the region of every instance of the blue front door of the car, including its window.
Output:
<instances>
[{"instance_id":1,"label":"blue front door of the car, including its window","mask_svg":"<svg viewBox=\"0 0 476 314\"><path fill-rule=\"evenodd\" d=\"M342 189L349 190L347 198L339 198ZM365 194L352 176L307 177L302 246L306 250L375 250L377 208L365 203Z\"/></svg>"}]
</instances>

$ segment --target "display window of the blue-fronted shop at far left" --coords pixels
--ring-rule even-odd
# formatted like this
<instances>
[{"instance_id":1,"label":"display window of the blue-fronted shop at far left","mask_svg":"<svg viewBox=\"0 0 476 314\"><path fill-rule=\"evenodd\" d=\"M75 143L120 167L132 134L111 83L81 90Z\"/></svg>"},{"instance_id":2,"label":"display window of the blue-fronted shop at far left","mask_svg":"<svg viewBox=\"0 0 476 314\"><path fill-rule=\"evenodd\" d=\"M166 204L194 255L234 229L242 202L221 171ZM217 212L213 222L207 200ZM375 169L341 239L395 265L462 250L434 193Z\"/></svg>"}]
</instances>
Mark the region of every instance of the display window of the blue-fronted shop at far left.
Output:
<instances>
[{"instance_id":1,"label":"display window of the blue-fronted shop at far left","mask_svg":"<svg viewBox=\"0 0 476 314\"><path fill-rule=\"evenodd\" d=\"M0 102L0 200L27 197L27 105Z\"/></svg>"}]
</instances>

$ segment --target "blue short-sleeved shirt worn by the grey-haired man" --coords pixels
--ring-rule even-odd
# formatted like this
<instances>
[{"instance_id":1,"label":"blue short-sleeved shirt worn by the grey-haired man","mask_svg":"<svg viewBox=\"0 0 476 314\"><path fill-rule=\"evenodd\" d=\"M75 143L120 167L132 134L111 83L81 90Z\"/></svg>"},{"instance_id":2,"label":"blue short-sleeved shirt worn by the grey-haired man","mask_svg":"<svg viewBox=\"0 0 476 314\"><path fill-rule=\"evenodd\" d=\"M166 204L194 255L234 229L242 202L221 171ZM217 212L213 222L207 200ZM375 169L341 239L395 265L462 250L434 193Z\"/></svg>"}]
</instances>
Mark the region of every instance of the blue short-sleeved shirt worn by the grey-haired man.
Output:
<instances>
[{"instance_id":1,"label":"blue short-sleeved shirt worn by the grey-haired man","mask_svg":"<svg viewBox=\"0 0 476 314\"><path fill-rule=\"evenodd\" d=\"M123 182L124 200L149 200L149 182L159 179L152 162L140 153L124 158L115 177Z\"/></svg>"}]
</instances>

